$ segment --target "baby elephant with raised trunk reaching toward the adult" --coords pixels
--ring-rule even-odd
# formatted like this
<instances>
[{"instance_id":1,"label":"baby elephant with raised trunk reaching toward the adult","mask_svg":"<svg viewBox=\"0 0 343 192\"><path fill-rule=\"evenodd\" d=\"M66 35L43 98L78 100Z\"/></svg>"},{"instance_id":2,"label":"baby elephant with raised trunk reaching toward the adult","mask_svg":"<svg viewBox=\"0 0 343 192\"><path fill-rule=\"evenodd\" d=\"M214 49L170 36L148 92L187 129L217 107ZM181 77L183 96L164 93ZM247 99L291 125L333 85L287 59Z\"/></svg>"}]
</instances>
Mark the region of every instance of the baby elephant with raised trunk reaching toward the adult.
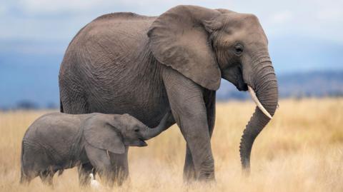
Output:
<instances>
[{"instance_id":1,"label":"baby elephant with raised trunk reaching toward the adult","mask_svg":"<svg viewBox=\"0 0 343 192\"><path fill-rule=\"evenodd\" d=\"M52 185L54 173L86 165L79 170L80 184L89 183L89 173L99 173L106 184L121 183L129 175L129 146L146 146L148 140L166 129L166 113L156 128L149 128L129 114L49 113L26 131L21 146L21 183L39 176ZM170 120L169 120L170 121Z\"/></svg>"}]
</instances>

